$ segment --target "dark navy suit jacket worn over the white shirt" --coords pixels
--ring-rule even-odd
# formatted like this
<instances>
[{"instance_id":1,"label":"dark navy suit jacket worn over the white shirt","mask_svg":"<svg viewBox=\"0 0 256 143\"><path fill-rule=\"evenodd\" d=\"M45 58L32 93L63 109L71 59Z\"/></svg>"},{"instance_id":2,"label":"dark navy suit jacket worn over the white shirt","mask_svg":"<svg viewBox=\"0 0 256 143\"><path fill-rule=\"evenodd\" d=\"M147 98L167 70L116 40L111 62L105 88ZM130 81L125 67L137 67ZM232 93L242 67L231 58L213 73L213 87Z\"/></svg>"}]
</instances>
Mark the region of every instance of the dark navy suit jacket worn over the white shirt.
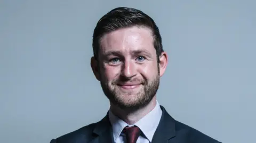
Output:
<instances>
[{"instance_id":1,"label":"dark navy suit jacket worn over the white shirt","mask_svg":"<svg viewBox=\"0 0 256 143\"><path fill-rule=\"evenodd\" d=\"M161 106L163 111L152 143L221 143L186 124L175 121ZM108 114L99 122L86 125L67 133L50 143L102 143L113 142L113 131Z\"/></svg>"}]
</instances>

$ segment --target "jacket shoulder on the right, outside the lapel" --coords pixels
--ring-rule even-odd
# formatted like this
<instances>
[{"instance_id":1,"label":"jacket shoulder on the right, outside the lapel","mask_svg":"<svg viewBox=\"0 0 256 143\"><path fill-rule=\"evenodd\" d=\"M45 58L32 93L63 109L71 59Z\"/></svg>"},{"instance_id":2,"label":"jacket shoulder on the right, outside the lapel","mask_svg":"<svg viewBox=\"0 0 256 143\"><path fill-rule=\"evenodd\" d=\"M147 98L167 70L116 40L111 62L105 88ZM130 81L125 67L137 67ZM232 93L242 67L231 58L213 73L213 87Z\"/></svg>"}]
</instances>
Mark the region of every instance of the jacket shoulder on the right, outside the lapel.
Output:
<instances>
[{"instance_id":1,"label":"jacket shoulder on the right, outside the lapel","mask_svg":"<svg viewBox=\"0 0 256 143\"><path fill-rule=\"evenodd\" d=\"M201 131L179 121L175 121L175 129L177 138L182 138L181 140L185 139L185 142L220 143L218 140L215 140Z\"/></svg>"}]
</instances>

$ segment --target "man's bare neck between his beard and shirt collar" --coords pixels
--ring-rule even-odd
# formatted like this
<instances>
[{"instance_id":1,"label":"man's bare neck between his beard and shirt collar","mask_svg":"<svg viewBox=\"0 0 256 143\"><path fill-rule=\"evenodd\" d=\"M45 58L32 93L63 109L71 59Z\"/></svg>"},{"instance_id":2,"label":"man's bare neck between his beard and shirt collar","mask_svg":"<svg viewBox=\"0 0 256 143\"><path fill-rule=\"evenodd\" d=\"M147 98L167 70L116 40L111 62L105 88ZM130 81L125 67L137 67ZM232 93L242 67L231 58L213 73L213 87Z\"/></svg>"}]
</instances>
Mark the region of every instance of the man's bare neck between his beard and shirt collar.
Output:
<instances>
[{"instance_id":1,"label":"man's bare neck between his beard and shirt collar","mask_svg":"<svg viewBox=\"0 0 256 143\"><path fill-rule=\"evenodd\" d=\"M156 96L144 107L135 111L123 110L116 105L110 103L110 110L124 122L132 125L138 122L143 116L147 115L156 106Z\"/></svg>"}]
</instances>

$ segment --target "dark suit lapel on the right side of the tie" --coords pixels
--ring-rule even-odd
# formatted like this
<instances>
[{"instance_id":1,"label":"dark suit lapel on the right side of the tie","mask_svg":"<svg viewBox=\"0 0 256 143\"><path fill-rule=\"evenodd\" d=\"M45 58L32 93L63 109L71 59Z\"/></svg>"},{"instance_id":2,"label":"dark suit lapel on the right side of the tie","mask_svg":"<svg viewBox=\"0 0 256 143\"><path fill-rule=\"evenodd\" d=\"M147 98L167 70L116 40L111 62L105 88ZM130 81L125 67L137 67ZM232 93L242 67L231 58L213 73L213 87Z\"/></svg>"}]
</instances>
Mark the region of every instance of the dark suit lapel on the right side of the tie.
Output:
<instances>
[{"instance_id":1,"label":"dark suit lapel on the right side of the tie","mask_svg":"<svg viewBox=\"0 0 256 143\"><path fill-rule=\"evenodd\" d=\"M153 136L152 143L168 142L169 139L175 137L175 120L161 106L162 117L156 132Z\"/></svg>"}]
</instances>

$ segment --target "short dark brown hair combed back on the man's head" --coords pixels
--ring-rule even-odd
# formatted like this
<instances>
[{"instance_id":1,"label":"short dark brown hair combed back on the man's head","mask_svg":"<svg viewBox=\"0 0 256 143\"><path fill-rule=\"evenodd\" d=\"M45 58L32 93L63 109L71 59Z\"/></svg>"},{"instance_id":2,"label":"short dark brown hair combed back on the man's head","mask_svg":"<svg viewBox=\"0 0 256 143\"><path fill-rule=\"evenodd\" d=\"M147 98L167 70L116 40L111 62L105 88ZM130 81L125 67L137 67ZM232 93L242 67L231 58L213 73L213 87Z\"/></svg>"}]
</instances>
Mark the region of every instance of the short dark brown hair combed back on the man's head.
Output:
<instances>
[{"instance_id":1,"label":"short dark brown hair combed back on the man's head","mask_svg":"<svg viewBox=\"0 0 256 143\"><path fill-rule=\"evenodd\" d=\"M146 26L152 30L154 47L156 49L157 60L159 61L159 56L164 50L162 46L162 38L156 23L147 14L130 7L117 7L103 15L98 21L93 32L92 40L94 58L98 59L100 39L104 34L120 28L132 26Z\"/></svg>"}]
</instances>

